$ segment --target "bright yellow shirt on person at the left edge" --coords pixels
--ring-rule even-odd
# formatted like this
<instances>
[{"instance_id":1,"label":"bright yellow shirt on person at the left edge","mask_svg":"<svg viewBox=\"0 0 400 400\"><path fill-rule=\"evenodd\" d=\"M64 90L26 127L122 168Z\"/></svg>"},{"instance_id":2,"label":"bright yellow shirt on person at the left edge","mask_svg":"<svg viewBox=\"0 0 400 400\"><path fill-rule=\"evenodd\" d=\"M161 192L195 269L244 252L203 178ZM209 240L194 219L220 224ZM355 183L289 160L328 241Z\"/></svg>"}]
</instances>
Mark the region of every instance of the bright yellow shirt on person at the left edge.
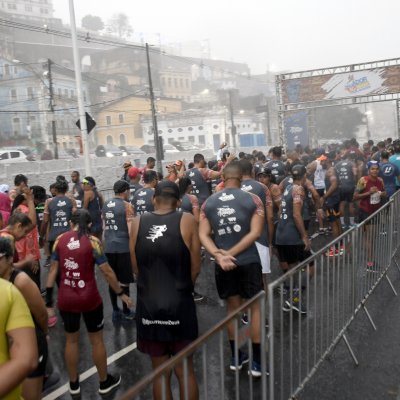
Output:
<instances>
[{"instance_id":1,"label":"bright yellow shirt on person at the left edge","mask_svg":"<svg viewBox=\"0 0 400 400\"><path fill-rule=\"evenodd\" d=\"M34 328L31 313L19 290L0 279L0 365L9 359L7 332L18 328ZM19 400L21 387L17 386L3 400Z\"/></svg>"}]
</instances>

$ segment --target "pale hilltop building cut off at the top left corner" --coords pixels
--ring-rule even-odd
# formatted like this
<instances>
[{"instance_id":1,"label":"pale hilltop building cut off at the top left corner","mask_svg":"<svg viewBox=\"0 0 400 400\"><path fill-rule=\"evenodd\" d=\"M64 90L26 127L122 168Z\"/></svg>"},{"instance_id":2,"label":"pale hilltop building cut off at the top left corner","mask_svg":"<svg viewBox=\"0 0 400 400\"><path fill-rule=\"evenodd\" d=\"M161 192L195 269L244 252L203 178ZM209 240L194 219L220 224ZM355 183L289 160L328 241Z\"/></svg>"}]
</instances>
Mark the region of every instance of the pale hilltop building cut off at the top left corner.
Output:
<instances>
[{"instance_id":1,"label":"pale hilltop building cut off at the top left corner","mask_svg":"<svg viewBox=\"0 0 400 400\"><path fill-rule=\"evenodd\" d=\"M2 0L0 11L27 21L53 18L53 0Z\"/></svg>"}]
</instances>

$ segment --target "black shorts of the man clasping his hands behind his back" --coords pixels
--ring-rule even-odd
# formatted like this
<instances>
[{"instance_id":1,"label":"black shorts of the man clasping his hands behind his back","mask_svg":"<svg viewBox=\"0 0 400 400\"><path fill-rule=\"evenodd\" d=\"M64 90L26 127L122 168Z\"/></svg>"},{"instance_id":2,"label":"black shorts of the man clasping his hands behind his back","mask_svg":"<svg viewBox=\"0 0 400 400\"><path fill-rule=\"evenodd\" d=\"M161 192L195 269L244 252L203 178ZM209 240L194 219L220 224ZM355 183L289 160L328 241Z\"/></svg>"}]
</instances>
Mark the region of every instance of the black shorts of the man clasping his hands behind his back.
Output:
<instances>
[{"instance_id":1,"label":"black shorts of the man clasping his hands behind his back","mask_svg":"<svg viewBox=\"0 0 400 400\"><path fill-rule=\"evenodd\" d=\"M231 271L224 271L218 264L215 264L215 282L221 299L232 296L251 299L263 290L261 264L238 265Z\"/></svg>"}]
</instances>

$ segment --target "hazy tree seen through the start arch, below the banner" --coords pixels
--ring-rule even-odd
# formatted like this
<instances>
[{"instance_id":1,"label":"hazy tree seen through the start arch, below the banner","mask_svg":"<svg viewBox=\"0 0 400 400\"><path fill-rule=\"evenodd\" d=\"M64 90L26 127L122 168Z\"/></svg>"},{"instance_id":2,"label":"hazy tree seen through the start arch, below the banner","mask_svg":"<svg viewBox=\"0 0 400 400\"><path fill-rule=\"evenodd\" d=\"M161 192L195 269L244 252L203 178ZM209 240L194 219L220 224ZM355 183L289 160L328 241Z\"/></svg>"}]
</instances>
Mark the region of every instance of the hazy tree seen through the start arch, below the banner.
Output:
<instances>
[{"instance_id":1,"label":"hazy tree seen through the start arch, below the banner","mask_svg":"<svg viewBox=\"0 0 400 400\"><path fill-rule=\"evenodd\" d=\"M315 122L319 139L342 140L355 137L358 127L365 124L365 119L358 108L338 106L317 108Z\"/></svg>"}]
</instances>

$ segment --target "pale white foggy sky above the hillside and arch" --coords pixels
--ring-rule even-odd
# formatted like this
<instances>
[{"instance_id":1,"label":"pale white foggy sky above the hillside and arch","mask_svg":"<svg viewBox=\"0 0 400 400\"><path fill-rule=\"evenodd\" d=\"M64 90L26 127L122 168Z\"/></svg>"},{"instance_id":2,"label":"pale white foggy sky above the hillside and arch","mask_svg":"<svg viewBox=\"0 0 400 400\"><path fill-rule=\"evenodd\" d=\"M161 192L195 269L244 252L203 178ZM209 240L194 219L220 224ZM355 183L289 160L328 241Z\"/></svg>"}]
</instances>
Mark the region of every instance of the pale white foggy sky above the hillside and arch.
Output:
<instances>
[{"instance_id":1,"label":"pale white foggy sky above the hillside and arch","mask_svg":"<svg viewBox=\"0 0 400 400\"><path fill-rule=\"evenodd\" d=\"M68 0L53 4L69 23ZM86 14L106 22L116 12L130 17L135 39L209 39L213 58L245 62L252 74L400 56L400 0L75 0L78 25Z\"/></svg>"}]
</instances>

